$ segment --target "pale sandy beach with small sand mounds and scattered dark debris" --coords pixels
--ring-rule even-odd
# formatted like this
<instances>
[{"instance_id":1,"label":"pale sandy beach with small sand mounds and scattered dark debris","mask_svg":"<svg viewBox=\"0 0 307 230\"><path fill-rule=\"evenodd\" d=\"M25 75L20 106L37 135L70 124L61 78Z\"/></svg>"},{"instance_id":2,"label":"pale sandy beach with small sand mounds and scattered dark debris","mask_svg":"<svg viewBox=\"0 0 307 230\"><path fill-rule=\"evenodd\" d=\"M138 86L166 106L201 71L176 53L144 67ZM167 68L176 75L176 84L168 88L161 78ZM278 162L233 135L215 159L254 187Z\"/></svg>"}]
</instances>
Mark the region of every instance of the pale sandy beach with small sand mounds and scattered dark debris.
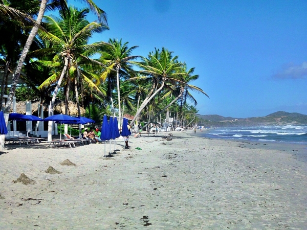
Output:
<instances>
[{"instance_id":1,"label":"pale sandy beach with small sand mounds and scattered dark debris","mask_svg":"<svg viewBox=\"0 0 307 230\"><path fill-rule=\"evenodd\" d=\"M307 229L306 146L191 133L121 139L106 158L103 144L6 145L0 228Z\"/></svg>"}]
</instances>

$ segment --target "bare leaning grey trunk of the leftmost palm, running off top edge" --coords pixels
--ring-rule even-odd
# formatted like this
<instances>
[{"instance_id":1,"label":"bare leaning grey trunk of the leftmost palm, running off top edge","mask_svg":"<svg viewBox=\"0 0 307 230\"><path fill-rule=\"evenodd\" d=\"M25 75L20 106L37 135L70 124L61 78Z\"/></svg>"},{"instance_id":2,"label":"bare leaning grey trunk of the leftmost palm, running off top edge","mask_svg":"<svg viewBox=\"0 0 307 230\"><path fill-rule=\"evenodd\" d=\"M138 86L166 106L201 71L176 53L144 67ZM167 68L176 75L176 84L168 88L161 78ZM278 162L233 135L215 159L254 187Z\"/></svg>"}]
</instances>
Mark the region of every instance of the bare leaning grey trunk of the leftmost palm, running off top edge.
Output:
<instances>
[{"instance_id":1,"label":"bare leaning grey trunk of the leftmost palm, running off top edge","mask_svg":"<svg viewBox=\"0 0 307 230\"><path fill-rule=\"evenodd\" d=\"M17 65L17 68L16 68L16 72L15 72L15 75L14 75L14 78L13 78L13 81L12 81L10 93L8 95L7 103L6 103L5 110L4 110L4 113L5 113L4 117L5 117L6 124L8 123L8 120L9 120L9 111L10 111L10 108L11 108L11 105L12 105L13 96L15 94L17 83L18 83L18 80L19 80L19 77L20 77L21 68L23 67L23 64L26 60L27 54L28 54L29 49L31 47L31 44L32 44L32 42L33 42L33 40L34 40L34 38L37 34L38 25L40 25L40 23L41 23L43 14L45 13L46 5L47 5L47 0L41 0L39 12L38 12L37 19L36 19L37 25L34 25L34 27L32 28L31 33L30 33L30 35L29 35L29 37L26 41L24 50L20 55L18 65Z\"/></svg>"}]
</instances>

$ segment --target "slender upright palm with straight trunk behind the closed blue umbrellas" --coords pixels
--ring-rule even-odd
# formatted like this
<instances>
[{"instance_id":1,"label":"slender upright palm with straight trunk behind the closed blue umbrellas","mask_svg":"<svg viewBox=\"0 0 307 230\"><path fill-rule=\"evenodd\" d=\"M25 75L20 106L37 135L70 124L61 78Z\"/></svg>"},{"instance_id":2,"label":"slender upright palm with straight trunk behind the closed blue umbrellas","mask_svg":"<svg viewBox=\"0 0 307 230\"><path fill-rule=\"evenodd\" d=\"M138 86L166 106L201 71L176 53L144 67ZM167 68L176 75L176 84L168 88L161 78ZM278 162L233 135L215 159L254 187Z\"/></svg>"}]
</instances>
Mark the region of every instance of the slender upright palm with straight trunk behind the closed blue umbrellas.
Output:
<instances>
[{"instance_id":1,"label":"slender upright palm with straight trunk behind the closed blue umbrellas","mask_svg":"<svg viewBox=\"0 0 307 230\"><path fill-rule=\"evenodd\" d=\"M128 77L133 72L131 61L138 58L139 56L130 56L133 50L138 46L128 48L128 42L122 43L116 39L109 39L110 47L106 51L101 53L100 61L107 66L107 76L112 76L111 71L116 72L116 83L117 83L117 97L118 102L120 99L120 77ZM118 103L118 126L121 125L121 105Z\"/></svg>"}]
</instances>

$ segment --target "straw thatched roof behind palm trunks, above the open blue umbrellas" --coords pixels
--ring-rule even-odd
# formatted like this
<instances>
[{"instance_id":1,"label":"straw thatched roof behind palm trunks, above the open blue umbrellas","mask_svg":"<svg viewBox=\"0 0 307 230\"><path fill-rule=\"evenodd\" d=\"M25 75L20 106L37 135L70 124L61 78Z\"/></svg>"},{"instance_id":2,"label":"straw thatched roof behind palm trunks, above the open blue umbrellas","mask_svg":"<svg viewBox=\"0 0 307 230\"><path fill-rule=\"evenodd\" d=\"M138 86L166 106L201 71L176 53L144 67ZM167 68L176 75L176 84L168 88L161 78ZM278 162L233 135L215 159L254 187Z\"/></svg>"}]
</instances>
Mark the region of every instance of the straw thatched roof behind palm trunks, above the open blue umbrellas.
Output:
<instances>
[{"instance_id":1,"label":"straw thatched roof behind palm trunks, above the open blue umbrellas","mask_svg":"<svg viewBox=\"0 0 307 230\"><path fill-rule=\"evenodd\" d=\"M32 114L37 114L37 108L38 108L39 102L32 102ZM49 104L43 103L43 111L48 112L48 106ZM13 112L13 109L11 109L11 112ZM26 114L26 102L25 101L19 101L16 102L16 112L21 114ZM81 116L85 114L85 109L80 107ZM54 113L55 114L64 114L65 113L65 102L64 101L57 101L54 104ZM78 116L78 107L77 104L75 104L72 101L68 102L68 115L75 115Z\"/></svg>"}]
</instances>

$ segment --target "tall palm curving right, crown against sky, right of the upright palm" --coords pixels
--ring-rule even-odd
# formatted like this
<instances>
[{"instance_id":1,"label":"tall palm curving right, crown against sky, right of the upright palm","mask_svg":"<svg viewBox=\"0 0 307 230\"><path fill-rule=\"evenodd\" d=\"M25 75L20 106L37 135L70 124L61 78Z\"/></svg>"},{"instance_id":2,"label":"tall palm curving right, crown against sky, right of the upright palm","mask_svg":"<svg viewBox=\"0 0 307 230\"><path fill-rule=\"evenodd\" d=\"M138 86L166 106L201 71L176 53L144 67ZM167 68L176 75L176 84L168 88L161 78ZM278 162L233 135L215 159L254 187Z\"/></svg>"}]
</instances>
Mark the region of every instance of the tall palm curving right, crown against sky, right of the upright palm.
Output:
<instances>
[{"instance_id":1,"label":"tall palm curving right, crown against sky, right of the upright palm","mask_svg":"<svg viewBox=\"0 0 307 230\"><path fill-rule=\"evenodd\" d=\"M142 68L141 74L146 74L151 79L151 88L136 112L134 119L130 122L131 127L151 99L164 88L166 82L180 81L179 77L186 74L181 72L182 63L178 62L178 56L173 57L172 52L164 47L161 52L159 52L159 49L155 49L155 52L149 53L148 58L142 57L142 59L142 62L134 63Z\"/></svg>"}]
</instances>

